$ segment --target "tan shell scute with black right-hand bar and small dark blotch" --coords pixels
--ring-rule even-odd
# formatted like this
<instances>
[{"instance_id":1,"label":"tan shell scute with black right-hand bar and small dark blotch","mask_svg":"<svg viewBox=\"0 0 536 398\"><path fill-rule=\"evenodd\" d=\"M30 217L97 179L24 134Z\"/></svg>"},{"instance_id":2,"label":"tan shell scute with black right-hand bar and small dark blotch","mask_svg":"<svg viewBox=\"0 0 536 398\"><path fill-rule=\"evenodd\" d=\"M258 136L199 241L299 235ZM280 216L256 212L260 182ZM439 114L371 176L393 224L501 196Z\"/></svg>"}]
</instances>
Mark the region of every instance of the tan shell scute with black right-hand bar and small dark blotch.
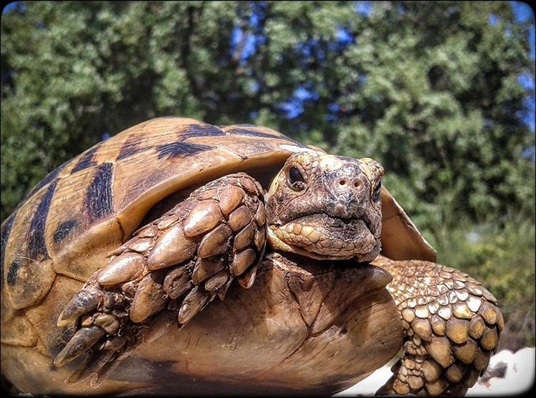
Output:
<instances>
[{"instance_id":1,"label":"tan shell scute with black right-hand bar and small dark blotch","mask_svg":"<svg viewBox=\"0 0 536 398\"><path fill-rule=\"evenodd\" d=\"M113 184L114 164L110 162L59 179L44 234L56 272L83 281L122 244Z\"/></svg>"}]
</instances>

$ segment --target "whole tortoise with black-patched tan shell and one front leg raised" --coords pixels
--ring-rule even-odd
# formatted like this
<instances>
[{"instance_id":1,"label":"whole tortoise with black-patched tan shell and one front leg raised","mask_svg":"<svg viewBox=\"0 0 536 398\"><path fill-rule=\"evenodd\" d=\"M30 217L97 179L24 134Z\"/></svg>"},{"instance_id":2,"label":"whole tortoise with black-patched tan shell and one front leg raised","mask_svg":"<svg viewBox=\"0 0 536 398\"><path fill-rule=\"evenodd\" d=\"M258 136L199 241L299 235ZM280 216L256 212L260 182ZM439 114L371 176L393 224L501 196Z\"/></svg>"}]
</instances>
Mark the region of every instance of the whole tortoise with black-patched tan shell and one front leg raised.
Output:
<instances>
[{"instance_id":1,"label":"whole tortoise with black-patched tan shell and one front leg raised","mask_svg":"<svg viewBox=\"0 0 536 398\"><path fill-rule=\"evenodd\" d=\"M379 393L464 394L497 300L435 264L383 174L178 117L96 144L2 224L4 387L334 394L398 358Z\"/></svg>"}]
</instances>

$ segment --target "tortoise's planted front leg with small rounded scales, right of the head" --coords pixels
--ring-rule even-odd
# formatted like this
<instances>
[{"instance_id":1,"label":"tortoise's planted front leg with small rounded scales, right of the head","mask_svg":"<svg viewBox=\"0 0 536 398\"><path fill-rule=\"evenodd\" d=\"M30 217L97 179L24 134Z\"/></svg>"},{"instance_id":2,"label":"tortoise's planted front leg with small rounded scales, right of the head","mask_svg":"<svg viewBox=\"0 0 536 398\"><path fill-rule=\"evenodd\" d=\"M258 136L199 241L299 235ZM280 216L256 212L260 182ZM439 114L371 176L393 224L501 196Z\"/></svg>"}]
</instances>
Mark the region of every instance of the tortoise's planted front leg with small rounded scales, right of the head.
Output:
<instances>
[{"instance_id":1,"label":"tortoise's planted front leg with small rounded scales, right of the head","mask_svg":"<svg viewBox=\"0 0 536 398\"><path fill-rule=\"evenodd\" d=\"M389 271L387 289L405 330L404 356L377 394L460 397L485 371L504 319L497 300L469 275L424 261L372 264Z\"/></svg>"}]
</instances>

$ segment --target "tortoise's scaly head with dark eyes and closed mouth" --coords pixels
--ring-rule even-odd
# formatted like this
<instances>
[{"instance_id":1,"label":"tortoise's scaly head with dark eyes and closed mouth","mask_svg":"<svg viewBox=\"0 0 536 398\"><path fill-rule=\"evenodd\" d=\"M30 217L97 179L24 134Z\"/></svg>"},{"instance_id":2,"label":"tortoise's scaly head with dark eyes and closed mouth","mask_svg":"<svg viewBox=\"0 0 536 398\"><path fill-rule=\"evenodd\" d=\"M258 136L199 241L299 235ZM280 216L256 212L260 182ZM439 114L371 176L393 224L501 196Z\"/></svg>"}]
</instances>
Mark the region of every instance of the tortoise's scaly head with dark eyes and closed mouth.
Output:
<instances>
[{"instance_id":1,"label":"tortoise's scaly head with dark eyes and closed mouth","mask_svg":"<svg viewBox=\"0 0 536 398\"><path fill-rule=\"evenodd\" d=\"M267 194L269 243L314 259L372 261L381 248L383 174L369 158L289 157Z\"/></svg>"}]
</instances>

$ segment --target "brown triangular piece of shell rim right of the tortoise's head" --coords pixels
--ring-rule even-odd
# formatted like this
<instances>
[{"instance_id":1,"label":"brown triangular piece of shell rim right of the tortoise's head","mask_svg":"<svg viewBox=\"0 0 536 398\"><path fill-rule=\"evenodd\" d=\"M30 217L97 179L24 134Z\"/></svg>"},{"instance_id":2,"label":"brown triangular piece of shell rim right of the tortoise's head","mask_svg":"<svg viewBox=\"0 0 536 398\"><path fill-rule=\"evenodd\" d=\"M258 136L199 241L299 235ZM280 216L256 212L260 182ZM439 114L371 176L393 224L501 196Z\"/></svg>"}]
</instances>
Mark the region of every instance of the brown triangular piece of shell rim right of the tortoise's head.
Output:
<instances>
[{"instance_id":1,"label":"brown triangular piece of shell rim right of the tortoise's head","mask_svg":"<svg viewBox=\"0 0 536 398\"><path fill-rule=\"evenodd\" d=\"M437 252L427 242L394 197L382 186L382 254L393 260L435 262Z\"/></svg>"}]
</instances>

